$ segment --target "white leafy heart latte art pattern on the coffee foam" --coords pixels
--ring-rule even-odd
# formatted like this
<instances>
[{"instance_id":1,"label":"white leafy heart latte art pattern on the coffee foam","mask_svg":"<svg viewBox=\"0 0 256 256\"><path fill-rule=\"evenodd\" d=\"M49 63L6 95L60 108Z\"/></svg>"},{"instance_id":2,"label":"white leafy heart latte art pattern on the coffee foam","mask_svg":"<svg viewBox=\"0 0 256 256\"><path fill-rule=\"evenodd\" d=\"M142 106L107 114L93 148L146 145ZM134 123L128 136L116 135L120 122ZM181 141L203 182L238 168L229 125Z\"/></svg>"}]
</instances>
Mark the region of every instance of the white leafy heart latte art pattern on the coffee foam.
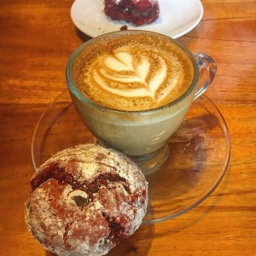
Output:
<instances>
[{"instance_id":1,"label":"white leafy heart latte art pattern on the coffee foam","mask_svg":"<svg viewBox=\"0 0 256 256\"><path fill-rule=\"evenodd\" d=\"M93 70L96 84L113 95L155 99L166 79L166 60L161 55L117 51L102 55Z\"/></svg>"}]
</instances>

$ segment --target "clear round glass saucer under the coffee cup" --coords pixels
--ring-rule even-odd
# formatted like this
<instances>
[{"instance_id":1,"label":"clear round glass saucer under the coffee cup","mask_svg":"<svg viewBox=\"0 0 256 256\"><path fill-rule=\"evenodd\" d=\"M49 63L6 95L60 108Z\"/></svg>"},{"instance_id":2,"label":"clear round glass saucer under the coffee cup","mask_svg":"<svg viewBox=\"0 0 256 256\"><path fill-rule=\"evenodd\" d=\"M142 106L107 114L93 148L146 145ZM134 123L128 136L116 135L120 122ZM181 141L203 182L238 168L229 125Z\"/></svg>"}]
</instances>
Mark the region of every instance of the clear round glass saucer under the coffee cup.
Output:
<instances>
[{"instance_id":1,"label":"clear round glass saucer under the coffee cup","mask_svg":"<svg viewBox=\"0 0 256 256\"><path fill-rule=\"evenodd\" d=\"M52 154L95 138L79 119L68 90L44 111L32 137L35 169ZM214 103L201 96L169 140L170 154L161 169L148 175L148 212L144 224L188 212L216 189L230 161L230 133Z\"/></svg>"}]
</instances>

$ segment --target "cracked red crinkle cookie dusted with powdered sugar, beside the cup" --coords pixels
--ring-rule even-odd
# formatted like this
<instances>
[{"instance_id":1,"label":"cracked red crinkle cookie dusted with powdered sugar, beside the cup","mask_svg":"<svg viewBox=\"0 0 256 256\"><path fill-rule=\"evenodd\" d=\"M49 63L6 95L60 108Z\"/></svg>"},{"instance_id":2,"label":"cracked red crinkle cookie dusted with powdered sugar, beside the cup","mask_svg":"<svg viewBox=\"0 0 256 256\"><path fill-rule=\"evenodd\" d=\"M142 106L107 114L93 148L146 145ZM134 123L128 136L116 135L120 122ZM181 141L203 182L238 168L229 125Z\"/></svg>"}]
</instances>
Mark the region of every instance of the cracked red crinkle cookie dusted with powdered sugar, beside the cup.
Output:
<instances>
[{"instance_id":1,"label":"cracked red crinkle cookie dusted with powdered sugar, beside the cup","mask_svg":"<svg viewBox=\"0 0 256 256\"><path fill-rule=\"evenodd\" d=\"M28 230L57 255L104 255L142 223L148 183L124 154L95 144L67 148L32 176Z\"/></svg>"}]
</instances>

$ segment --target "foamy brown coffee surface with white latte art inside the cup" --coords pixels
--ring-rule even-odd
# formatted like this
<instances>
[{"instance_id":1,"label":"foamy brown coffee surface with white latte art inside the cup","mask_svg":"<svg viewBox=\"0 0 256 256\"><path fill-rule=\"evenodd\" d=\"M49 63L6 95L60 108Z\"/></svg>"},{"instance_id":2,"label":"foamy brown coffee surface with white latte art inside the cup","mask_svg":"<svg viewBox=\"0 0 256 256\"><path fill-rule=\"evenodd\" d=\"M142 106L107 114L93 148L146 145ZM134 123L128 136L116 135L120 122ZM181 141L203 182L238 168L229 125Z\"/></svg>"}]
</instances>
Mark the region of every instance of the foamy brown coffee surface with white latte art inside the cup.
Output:
<instances>
[{"instance_id":1,"label":"foamy brown coffee surface with white latte art inside the cup","mask_svg":"<svg viewBox=\"0 0 256 256\"><path fill-rule=\"evenodd\" d=\"M92 102L137 111L159 108L188 90L189 56L166 38L132 35L89 44L73 63L73 81Z\"/></svg>"}]
</instances>

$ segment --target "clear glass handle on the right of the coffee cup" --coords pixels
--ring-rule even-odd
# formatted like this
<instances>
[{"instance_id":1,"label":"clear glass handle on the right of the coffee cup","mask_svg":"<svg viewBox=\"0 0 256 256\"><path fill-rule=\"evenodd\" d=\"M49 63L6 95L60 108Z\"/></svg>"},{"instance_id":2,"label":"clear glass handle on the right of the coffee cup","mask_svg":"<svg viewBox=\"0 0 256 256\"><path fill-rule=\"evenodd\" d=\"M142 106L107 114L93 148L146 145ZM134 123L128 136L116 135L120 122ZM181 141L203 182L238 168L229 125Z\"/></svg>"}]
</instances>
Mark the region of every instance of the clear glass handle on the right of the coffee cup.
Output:
<instances>
[{"instance_id":1,"label":"clear glass handle on the right of the coffee cup","mask_svg":"<svg viewBox=\"0 0 256 256\"><path fill-rule=\"evenodd\" d=\"M212 57L204 53L194 53L195 61L199 67L199 82L195 92L194 101L201 96L212 83L217 71L217 65Z\"/></svg>"}]
</instances>

